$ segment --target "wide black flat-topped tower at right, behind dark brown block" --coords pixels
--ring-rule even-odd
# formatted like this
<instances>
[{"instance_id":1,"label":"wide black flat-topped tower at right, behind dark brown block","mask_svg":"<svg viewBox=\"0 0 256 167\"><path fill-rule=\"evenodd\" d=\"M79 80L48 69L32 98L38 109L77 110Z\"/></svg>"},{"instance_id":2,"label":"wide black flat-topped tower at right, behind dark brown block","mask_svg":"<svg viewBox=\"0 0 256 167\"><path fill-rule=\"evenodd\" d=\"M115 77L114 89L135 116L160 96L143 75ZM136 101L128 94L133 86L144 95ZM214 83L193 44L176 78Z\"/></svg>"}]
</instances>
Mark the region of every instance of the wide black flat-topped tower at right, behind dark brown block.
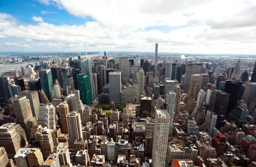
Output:
<instances>
[{"instance_id":1,"label":"wide black flat-topped tower at right, behind dark brown block","mask_svg":"<svg viewBox=\"0 0 256 167\"><path fill-rule=\"evenodd\" d=\"M230 113L233 109L236 108L241 85L242 85L242 82L236 82L233 80L227 80L225 82L224 91L230 94L227 113Z\"/></svg>"}]
</instances>

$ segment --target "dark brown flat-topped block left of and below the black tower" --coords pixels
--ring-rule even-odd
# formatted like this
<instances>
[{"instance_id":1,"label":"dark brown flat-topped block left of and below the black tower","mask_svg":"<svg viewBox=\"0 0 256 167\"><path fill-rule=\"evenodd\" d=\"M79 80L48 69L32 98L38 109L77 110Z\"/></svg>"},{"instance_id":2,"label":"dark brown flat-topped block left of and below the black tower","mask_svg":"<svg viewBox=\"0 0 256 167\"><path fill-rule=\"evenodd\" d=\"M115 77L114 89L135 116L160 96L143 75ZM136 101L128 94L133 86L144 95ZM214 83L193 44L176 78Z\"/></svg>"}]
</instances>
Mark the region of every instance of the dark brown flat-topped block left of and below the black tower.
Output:
<instances>
[{"instance_id":1,"label":"dark brown flat-topped block left of and below the black tower","mask_svg":"<svg viewBox=\"0 0 256 167\"><path fill-rule=\"evenodd\" d=\"M216 92L216 98L214 103L214 112L217 115L224 115L227 114L227 107L229 103L229 96L230 94L224 92L224 91L217 91Z\"/></svg>"}]
</instances>

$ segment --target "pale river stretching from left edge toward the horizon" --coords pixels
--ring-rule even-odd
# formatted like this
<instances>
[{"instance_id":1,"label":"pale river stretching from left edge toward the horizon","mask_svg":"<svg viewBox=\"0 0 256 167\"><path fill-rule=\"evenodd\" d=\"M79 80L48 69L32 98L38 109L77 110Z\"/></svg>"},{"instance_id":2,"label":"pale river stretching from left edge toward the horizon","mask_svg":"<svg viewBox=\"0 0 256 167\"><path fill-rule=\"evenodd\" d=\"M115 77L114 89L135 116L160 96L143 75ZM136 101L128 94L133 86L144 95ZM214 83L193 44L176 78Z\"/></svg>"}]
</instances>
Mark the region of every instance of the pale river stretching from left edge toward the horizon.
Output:
<instances>
[{"instance_id":1,"label":"pale river stretching from left edge toward the horizon","mask_svg":"<svg viewBox=\"0 0 256 167\"><path fill-rule=\"evenodd\" d=\"M93 56L99 56L99 54L92 54L92 55L87 55L87 57L93 57ZM81 58L84 58L85 56L81 56ZM74 57L77 59L77 57ZM68 59L68 58L66 58ZM46 60L47 62L52 62L53 59L48 59ZM34 62L26 62L26 63L20 63L20 64L13 64L13 65L0 65L0 73L5 73L5 72L9 72L10 69L18 69L20 70L21 67L25 68L27 65L31 64L33 65L33 67L35 67L35 62L38 63L39 65L39 61L34 61Z\"/></svg>"}]
</instances>

